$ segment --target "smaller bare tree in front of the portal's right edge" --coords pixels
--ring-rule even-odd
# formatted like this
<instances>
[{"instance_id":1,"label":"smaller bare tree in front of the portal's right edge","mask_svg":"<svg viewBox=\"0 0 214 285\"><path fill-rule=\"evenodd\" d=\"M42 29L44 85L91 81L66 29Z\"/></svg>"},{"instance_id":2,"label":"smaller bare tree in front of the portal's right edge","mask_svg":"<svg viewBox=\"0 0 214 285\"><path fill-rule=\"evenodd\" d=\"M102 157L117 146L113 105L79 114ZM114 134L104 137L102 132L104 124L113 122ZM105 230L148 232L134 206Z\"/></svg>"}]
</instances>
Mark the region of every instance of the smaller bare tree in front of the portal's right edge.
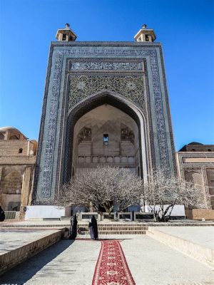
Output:
<instances>
[{"instance_id":1,"label":"smaller bare tree in front of the portal's right edge","mask_svg":"<svg viewBox=\"0 0 214 285\"><path fill-rule=\"evenodd\" d=\"M143 185L143 199L155 214L157 222L167 222L175 204L185 207L205 207L202 185L168 177L165 170L156 171Z\"/></svg>"}]
</instances>

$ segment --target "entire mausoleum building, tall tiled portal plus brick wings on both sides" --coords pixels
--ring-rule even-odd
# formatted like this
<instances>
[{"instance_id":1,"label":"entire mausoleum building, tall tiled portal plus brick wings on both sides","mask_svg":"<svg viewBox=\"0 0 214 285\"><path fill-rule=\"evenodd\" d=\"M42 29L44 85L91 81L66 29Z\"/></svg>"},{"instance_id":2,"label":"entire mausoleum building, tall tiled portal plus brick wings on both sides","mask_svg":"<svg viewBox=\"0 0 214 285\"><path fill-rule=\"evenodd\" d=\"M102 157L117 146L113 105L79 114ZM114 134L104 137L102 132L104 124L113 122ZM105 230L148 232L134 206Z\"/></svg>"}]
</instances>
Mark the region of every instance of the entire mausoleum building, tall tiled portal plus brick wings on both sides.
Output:
<instances>
[{"instance_id":1,"label":"entire mausoleum building, tall tiled portal plus brick wings on both sides","mask_svg":"<svg viewBox=\"0 0 214 285\"><path fill-rule=\"evenodd\" d=\"M21 219L70 215L70 208L51 204L63 184L110 165L143 182L161 169L202 185L206 209L185 214L213 217L214 146L192 142L175 153L163 51L153 29L143 25L128 42L76 37L66 24L51 42L38 147L16 128L0 128L4 210L17 217L20 211Z\"/></svg>"}]
</instances>

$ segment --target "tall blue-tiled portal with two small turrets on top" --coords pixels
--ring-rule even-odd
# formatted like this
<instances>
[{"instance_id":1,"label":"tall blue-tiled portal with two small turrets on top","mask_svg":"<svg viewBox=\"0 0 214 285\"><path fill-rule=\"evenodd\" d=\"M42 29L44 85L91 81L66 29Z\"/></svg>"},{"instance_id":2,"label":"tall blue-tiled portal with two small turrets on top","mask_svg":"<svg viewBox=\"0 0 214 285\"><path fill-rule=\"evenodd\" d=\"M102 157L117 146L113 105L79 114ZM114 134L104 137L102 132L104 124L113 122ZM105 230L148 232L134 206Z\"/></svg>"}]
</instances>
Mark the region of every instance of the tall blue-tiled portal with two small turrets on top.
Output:
<instances>
[{"instance_id":1,"label":"tall blue-tiled portal with two small turrets on top","mask_svg":"<svg viewBox=\"0 0 214 285\"><path fill-rule=\"evenodd\" d=\"M146 25L135 41L51 42L32 203L49 204L76 172L127 167L146 182L177 175L163 51Z\"/></svg>"}]
</instances>

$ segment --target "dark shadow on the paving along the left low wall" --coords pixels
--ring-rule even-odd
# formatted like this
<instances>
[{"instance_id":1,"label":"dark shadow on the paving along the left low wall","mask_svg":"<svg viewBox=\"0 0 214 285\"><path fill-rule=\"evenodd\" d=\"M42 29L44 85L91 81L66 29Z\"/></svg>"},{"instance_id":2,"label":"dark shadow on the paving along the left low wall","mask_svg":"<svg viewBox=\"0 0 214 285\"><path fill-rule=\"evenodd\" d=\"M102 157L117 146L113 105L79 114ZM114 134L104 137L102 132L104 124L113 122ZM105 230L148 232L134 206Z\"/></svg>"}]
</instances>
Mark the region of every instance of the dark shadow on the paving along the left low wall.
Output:
<instances>
[{"instance_id":1,"label":"dark shadow on the paving along the left low wall","mask_svg":"<svg viewBox=\"0 0 214 285\"><path fill-rule=\"evenodd\" d=\"M23 263L13 267L0 276L0 284L22 285L32 278L40 269L42 269L51 260L55 259L58 254L73 244L73 240L62 239L56 244L51 245L39 254L34 255Z\"/></svg>"}]
</instances>

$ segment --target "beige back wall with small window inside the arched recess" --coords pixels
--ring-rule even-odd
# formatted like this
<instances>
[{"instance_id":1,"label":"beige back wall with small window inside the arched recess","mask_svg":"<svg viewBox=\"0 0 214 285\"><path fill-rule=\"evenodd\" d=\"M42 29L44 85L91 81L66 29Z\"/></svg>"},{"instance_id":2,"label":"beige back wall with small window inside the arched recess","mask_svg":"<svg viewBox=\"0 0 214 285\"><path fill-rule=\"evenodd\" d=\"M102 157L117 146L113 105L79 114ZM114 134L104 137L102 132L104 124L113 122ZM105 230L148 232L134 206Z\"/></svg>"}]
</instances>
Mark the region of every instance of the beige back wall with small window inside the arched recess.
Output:
<instances>
[{"instance_id":1,"label":"beige back wall with small window inside the arched recess","mask_svg":"<svg viewBox=\"0 0 214 285\"><path fill-rule=\"evenodd\" d=\"M98 165L126 167L138 175L138 125L128 114L103 104L78 119L73 129L74 173Z\"/></svg>"}]
</instances>

